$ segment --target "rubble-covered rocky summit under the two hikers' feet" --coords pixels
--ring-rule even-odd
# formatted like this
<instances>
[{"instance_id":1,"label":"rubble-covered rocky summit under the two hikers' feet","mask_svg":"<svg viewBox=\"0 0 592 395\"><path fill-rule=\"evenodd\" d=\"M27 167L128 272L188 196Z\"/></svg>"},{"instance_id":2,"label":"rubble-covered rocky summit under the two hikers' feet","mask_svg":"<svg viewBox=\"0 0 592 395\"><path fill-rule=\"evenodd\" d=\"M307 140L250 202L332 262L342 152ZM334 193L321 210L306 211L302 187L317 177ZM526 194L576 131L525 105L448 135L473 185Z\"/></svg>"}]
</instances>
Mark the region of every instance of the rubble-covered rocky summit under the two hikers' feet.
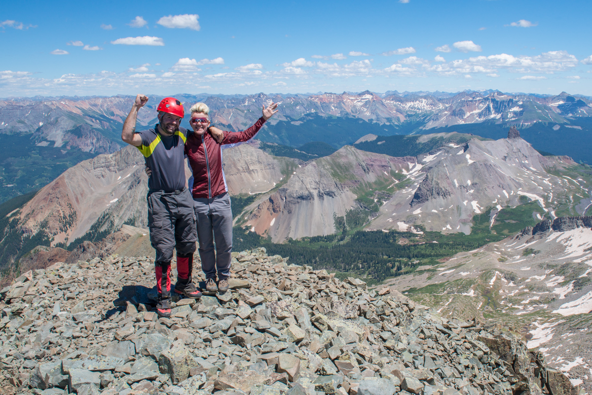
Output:
<instances>
[{"instance_id":1,"label":"rubble-covered rocky summit under the two hikers' feet","mask_svg":"<svg viewBox=\"0 0 592 395\"><path fill-rule=\"evenodd\" d=\"M233 253L230 290L176 299L171 318L153 311L153 283L149 258L111 256L29 271L0 290L0 391L578 393L506 330L264 248Z\"/></svg>"}]
</instances>

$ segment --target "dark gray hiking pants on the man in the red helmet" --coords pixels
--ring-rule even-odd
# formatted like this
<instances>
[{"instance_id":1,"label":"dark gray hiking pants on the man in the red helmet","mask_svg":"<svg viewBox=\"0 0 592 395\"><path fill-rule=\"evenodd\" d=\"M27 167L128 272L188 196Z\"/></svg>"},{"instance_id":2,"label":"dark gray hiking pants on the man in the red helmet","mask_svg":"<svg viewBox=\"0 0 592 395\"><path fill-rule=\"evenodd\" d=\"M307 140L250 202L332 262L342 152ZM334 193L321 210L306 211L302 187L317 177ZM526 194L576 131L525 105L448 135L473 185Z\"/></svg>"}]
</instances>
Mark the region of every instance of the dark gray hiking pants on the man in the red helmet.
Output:
<instances>
[{"instance_id":1,"label":"dark gray hiking pants on the man in the red helmet","mask_svg":"<svg viewBox=\"0 0 592 395\"><path fill-rule=\"evenodd\" d=\"M175 192L149 191L148 228L156 262L170 262L177 255L195 252L197 232L193 199L187 188Z\"/></svg>"}]
</instances>

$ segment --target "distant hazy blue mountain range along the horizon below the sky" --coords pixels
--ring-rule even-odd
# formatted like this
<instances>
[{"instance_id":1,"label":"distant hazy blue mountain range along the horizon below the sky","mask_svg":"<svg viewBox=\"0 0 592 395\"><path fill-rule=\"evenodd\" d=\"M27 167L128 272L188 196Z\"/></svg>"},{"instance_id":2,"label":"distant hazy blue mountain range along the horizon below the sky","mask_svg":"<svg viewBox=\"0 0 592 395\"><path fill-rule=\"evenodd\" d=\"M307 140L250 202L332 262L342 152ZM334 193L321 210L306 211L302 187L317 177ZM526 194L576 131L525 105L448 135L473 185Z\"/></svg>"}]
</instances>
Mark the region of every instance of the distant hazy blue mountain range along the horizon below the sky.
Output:
<instances>
[{"instance_id":1,"label":"distant hazy blue mountain range along the horizon below the sky","mask_svg":"<svg viewBox=\"0 0 592 395\"><path fill-rule=\"evenodd\" d=\"M263 103L281 102L280 112L258 138L294 148L321 141L339 149L367 134L456 131L497 140L510 125L517 125L536 149L592 163L588 144L591 101L565 92L556 96L498 91L175 96L186 106L206 102L213 124L234 131L255 122ZM152 96L140 111L139 129L155 124L161 98ZM0 202L40 189L82 160L119 150L122 122L133 99L92 96L0 101Z\"/></svg>"}]
</instances>

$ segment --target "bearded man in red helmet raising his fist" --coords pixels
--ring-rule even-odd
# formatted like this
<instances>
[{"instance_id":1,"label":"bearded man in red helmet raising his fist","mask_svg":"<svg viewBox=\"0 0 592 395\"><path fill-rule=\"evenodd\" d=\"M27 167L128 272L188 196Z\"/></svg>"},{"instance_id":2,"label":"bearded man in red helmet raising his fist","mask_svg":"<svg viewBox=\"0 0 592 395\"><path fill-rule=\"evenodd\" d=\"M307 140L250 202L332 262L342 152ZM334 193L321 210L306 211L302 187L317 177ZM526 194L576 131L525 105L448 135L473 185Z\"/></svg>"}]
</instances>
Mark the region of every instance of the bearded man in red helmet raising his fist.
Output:
<instances>
[{"instance_id":1,"label":"bearded man in red helmet raising his fist","mask_svg":"<svg viewBox=\"0 0 592 395\"><path fill-rule=\"evenodd\" d=\"M148 227L150 243L156 250L155 271L158 300L156 311L170 316L170 261L177 251L177 283L175 292L199 298L201 292L192 281L193 254L197 231L193 199L185 180L185 141L188 131L179 127L185 111L175 98L160 102L157 124L153 129L136 132L140 108L148 101L137 95L121 132L121 140L137 147L152 169L148 180Z\"/></svg>"}]
</instances>

